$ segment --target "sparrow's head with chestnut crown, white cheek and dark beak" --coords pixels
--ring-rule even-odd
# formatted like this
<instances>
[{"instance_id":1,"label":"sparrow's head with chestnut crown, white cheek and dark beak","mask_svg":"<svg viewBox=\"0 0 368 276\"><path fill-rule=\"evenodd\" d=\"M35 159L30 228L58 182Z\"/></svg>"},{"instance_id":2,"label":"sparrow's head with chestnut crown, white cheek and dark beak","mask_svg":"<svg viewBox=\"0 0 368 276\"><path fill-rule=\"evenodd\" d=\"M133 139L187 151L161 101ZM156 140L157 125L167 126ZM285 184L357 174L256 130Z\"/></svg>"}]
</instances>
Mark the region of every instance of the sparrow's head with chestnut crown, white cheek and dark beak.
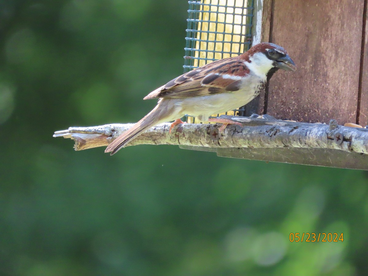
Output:
<instances>
[{"instance_id":1,"label":"sparrow's head with chestnut crown, white cheek and dark beak","mask_svg":"<svg viewBox=\"0 0 368 276\"><path fill-rule=\"evenodd\" d=\"M273 43L259 43L242 56L248 68L260 76L267 75L272 68L286 71L296 70L296 65L286 50Z\"/></svg>"}]
</instances>

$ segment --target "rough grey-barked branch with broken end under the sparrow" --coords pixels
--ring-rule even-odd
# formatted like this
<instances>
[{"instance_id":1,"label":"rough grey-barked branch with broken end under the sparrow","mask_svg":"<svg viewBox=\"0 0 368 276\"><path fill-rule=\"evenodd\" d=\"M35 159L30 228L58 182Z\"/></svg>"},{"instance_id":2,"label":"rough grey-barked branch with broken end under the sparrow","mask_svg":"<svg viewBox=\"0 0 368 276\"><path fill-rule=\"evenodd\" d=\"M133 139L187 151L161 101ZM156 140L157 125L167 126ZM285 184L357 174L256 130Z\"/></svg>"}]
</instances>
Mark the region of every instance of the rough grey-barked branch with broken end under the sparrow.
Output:
<instances>
[{"instance_id":1,"label":"rough grey-barked branch with broken end under the sparrow","mask_svg":"<svg viewBox=\"0 0 368 276\"><path fill-rule=\"evenodd\" d=\"M187 145L209 148L322 148L368 153L368 128L297 123L282 120L225 116L243 127L229 125L219 135L218 124L180 124L169 133L170 123L152 127L127 146ZM74 149L107 146L133 124L108 124L96 127L70 127L56 131L54 137L73 139Z\"/></svg>"}]
</instances>

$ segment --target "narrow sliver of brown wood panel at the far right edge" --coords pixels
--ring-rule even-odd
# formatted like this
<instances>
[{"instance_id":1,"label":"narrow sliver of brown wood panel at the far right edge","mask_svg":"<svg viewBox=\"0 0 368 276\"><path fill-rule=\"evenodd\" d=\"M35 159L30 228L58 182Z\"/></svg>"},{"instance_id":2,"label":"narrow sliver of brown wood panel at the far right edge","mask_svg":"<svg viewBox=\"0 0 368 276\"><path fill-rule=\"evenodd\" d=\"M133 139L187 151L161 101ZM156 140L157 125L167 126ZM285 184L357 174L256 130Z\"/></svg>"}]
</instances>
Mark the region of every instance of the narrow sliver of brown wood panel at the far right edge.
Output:
<instances>
[{"instance_id":1,"label":"narrow sliver of brown wood panel at the far right edge","mask_svg":"<svg viewBox=\"0 0 368 276\"><path fill-rule=\"evenodd\" d=\"M360 114L358 124L368 125L368 18L367 2L364 5L363 18L363 40L362 40L362 66L361 66L361 95L360 95Z\"/></svg>"}]
</instances>

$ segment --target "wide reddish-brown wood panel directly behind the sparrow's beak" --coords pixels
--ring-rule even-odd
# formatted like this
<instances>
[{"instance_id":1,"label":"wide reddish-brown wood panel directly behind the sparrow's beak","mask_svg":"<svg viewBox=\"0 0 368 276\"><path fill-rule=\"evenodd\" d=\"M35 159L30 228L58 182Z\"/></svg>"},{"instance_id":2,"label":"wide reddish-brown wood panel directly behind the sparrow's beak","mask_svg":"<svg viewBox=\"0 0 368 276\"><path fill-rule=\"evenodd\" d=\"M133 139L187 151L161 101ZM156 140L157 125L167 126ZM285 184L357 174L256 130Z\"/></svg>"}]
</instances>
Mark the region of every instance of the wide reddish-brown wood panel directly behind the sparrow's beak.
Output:
<instances>
[{"instance_id":1,"label":"wide reddish-brown wood panel directly behind the sparrow's beak","mask_svg":"<svg viewBox=\"0 0 368 276\"><path fill-rule=\"evenodd\" d=\"M306 122L354 123L364 0L274 0L272 42L297 64L270 81L267 113Z\"/></svg>"}]
</instances>

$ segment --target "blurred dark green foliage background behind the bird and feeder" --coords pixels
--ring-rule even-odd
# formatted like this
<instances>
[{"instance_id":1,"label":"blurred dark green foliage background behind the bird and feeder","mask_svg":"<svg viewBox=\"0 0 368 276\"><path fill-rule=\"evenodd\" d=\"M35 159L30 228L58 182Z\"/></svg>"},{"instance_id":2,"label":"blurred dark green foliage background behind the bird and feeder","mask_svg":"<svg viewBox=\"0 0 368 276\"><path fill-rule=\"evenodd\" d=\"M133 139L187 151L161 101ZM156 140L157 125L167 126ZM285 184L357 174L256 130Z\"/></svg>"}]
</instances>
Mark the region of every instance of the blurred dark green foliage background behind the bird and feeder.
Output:
<instances>
[{"instance_id":1,"label":"blurred dark green foliage background behind the bird and feeder","mask_svg":"<svg viewBox=\"0 0 368 276\"><path fill-rule=\"evenodd\" d=\"M364 171L176 146L74 152L183 72L184 0L0 1L0 275L364 275ZM343 233L291 243L296 232Z\"/></svg>"}]
</instances>

